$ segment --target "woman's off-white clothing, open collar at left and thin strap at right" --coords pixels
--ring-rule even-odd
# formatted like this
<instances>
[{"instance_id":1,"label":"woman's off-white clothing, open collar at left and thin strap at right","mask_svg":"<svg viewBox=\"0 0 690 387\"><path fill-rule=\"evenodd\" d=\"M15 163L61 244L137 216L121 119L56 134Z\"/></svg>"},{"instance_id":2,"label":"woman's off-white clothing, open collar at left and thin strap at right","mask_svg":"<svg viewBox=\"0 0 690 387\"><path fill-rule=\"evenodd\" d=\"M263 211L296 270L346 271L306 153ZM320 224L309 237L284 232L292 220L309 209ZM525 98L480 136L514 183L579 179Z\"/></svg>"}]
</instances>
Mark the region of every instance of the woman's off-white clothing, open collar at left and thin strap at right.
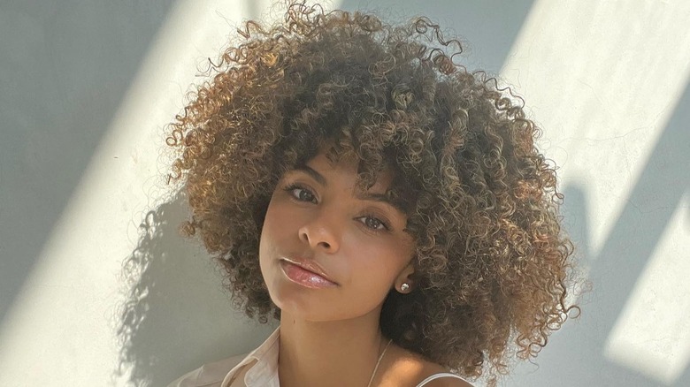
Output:
<instances>
[{"instance_id":1,"label":"woman's off-white clothing, open collar at left and thin strap at right","mask_svg":"<svg viewBox=\"0 0 690 387\"><path fill-rule=\"evenodd\" d=\"M246 356L234 356L226 360L203 365L168 387L280 387L278 380L278 345L280 328L266 338L264 344ZM440 377L454 377L467 382L460 376L441 372L427 377L417 387ZM469 382L468 382L469 383Z\"/></svg>"}]
</instances>

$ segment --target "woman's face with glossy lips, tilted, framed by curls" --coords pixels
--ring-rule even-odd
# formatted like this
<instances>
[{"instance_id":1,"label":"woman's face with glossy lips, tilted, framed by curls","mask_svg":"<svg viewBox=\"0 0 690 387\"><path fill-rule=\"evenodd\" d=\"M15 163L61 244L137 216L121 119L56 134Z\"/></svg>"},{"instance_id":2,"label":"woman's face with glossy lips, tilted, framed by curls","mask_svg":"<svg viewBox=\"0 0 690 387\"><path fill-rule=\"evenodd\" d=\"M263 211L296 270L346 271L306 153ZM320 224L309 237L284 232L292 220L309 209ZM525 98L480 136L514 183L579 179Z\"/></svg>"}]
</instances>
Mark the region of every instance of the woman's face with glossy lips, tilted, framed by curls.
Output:
<instances>
[{"instance_id":1,"label":"woman's face with glossy lips, tilted, framed by curls","mask_svg":"<svg viewBox=\"0 0 690 387\"><path fill-rule=\"evenodd\" d=\"M366 193L358 191L357 163L333 163L323 150L280 179L259 260L281 310L310 321L378 317L387 293L413 271L407 216L383 199L391 180L380 173Z\"/></svg>"}]
</instances>

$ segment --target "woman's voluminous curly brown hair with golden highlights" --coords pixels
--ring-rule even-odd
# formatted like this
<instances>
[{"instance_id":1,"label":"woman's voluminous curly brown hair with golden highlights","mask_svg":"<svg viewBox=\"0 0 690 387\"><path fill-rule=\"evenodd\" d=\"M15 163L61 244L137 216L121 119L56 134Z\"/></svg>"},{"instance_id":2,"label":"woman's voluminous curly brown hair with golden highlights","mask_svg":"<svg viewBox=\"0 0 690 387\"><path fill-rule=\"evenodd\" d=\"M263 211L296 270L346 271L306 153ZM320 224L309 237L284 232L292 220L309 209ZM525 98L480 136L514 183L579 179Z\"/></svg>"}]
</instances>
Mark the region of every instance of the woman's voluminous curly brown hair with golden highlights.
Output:
<instances>
[{"instance_id":1,"label":"woman's voluminous curly brown hair with golden highlights","mask_svg":"<svg viewBox=\"0 0 690 387\"><path fill-rule=\"evenodd\" d=\"M508 372L514 349L536 356L575 307L572 245L522 99L457 64L461 43L426 18L391 26L290 1L279 23L238 33L167 138L192 210L185 229L225 269L236 304L280 319L259 269L266 209L282 174L330 140L357 156L362 186L395 171L416 242L418 286L388 294L383 333L464 376Z\"/></svg>"}]
</instances>

